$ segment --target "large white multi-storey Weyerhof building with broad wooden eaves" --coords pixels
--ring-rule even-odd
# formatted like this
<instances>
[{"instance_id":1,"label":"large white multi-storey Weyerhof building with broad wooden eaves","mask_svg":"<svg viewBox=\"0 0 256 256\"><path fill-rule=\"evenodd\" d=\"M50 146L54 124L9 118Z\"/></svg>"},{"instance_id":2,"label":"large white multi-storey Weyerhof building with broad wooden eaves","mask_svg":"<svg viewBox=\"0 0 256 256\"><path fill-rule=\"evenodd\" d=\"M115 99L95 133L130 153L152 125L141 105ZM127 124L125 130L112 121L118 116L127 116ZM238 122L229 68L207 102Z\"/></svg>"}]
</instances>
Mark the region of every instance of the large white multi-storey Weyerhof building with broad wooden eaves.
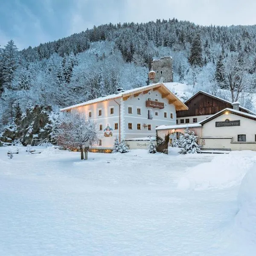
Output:
<instances>
[{"instance_id":1,"label":"large white multi-storey Weyerhof building with broad wooden eaves","mask_svg":"<svg viewBox=\"0 0 256 256\"><path fill-rule=\"evenodd\" d=\"M156 85L161 86L162 90ZM186 109L163 84L156 85L102 97L61 111L79 111L97 123L99 143L93 147L112 148L115 138L121 141L128 138L154 137L157 126L176 124L175 105ZM168 93L165 91L163 95L164 90ZM170 103L169 95L173 97L173 103ZM146 107L148 100L161 102L163 109Z\"/></svg>"}]
</instances>

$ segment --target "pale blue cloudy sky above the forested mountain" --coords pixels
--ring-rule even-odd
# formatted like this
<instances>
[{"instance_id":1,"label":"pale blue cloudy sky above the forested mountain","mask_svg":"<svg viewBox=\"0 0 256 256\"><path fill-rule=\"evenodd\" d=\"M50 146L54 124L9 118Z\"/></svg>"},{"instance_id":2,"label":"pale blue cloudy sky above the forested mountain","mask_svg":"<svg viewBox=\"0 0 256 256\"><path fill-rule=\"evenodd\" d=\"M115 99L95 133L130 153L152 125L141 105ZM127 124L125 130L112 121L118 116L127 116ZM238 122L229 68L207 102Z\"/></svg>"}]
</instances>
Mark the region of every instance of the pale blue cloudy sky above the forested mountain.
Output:
<instances>
[{"instance_id":1,"label":"pale blue cloudy sky above the forested mountain","mask_svg":"<svg viewBox=\"0 0 256 256\"><path fill-rule=\"evenodd\" d=\"M0 45L18 48L102 23L177 18L200 25L256 24L255 0L0 0Z\"/></svg>"}]
</instances>

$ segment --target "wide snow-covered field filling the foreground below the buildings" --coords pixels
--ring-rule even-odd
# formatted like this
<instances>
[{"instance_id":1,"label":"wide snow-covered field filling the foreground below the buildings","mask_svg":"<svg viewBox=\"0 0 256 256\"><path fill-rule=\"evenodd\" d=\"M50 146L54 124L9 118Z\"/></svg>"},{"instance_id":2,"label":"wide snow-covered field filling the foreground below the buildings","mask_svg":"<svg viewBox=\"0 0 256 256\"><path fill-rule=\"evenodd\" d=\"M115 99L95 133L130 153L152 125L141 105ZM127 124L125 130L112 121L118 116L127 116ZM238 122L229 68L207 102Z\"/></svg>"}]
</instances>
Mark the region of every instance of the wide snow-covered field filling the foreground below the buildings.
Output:
<instances>
[{"instance_id":1,"label":"wide snow-covered field filling the foreground below the buildings","mask_svg":"<svg viewBox=\"0 0 256 256\"><path fill-rule=\"evenodd\" d=\"M81 161L20 147L8 160L10 148L0 147L0 255L256 255L256 175L240 188L256 152L138 149Z\"/></svg>"}]
</instances>

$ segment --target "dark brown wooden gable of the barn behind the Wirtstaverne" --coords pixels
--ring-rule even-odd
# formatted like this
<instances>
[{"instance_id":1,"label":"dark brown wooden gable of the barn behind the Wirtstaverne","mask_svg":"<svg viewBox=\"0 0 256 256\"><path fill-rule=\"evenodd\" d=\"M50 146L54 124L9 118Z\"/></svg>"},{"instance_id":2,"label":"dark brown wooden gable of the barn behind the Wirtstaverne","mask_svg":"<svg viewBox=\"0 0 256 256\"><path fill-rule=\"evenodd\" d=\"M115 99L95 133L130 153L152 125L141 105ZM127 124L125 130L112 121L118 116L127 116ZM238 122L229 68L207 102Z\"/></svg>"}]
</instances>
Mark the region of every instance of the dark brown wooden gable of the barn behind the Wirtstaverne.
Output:
<instances>
[{"instance_id":1,"label":"dark brown wooden gable of the barn behind the Wirtstaverne","mask_svg":"<svg viewBox=\"0 0 256 256\"><path fill-rule=\"evenodd\" d=\"M198 92L186 102L188 110L177 111L177 117L213 115L224 108L233 108L230 102L210 96L204 92ZM248 113L242 108L239 111Z\"/></svg>"}]
</instances>

